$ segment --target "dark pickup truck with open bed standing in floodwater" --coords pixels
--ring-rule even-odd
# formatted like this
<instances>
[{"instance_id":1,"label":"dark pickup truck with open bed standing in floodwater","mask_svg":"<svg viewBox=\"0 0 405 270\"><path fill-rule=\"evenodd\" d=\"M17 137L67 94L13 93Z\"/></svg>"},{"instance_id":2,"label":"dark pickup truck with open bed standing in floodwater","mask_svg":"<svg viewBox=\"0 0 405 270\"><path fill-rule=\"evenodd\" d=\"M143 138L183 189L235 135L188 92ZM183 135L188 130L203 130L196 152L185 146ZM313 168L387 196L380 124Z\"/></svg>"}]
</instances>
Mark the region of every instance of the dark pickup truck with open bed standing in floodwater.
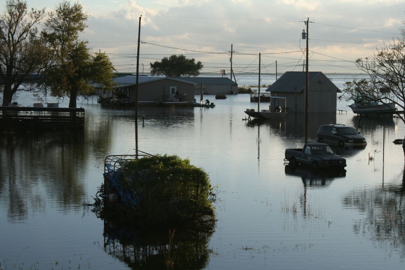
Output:
<instances>
[{"instance_id":1,"label":"dark pickup truck with open bed standing in floodwater","mask_svg":"<svg viewBox=\"0 0 405 270\"><path fill-rule=\"evenodd\" d=\"M336 155L329 145L320 142L306 143L303 148L286 149L285 159L294 168L298 164L309 165L314 172L320 169L343 169L346 159Z\"/></svg>"}]
</instances>

